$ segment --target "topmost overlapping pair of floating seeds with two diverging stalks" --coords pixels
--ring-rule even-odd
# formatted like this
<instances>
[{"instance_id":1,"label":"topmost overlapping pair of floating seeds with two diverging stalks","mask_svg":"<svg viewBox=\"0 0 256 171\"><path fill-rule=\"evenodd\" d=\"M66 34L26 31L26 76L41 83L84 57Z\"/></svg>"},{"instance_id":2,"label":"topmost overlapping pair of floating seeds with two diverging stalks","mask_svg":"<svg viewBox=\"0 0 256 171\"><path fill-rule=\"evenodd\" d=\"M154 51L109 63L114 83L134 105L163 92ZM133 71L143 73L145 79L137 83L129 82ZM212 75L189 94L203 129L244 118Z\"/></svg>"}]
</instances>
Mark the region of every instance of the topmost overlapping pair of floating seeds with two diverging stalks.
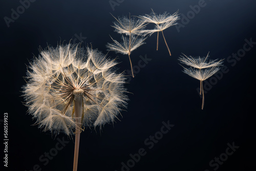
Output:
<instances>
[{"instance_id":1,"label":"topmost overlapping pair of floating seeds with two diverging stalks","mask_svg":"<svg viewBox=\"0 0 256 171\"><path fill-rule=\"evenodd\" d=\"M150 15L148 14L140 15L139 18L143 19L144 23L154 23L156 25L153 30L144 30L144 34L152 35L153 33L157 32L157 50L158 50L158 37L159 37L159 32L161 31L164 38L165 45L170 54L170 50L165 40L163 30L177 24L176 21L179 19L178 12L174 13L173 15L170 15L167 12L157 15L152 9L152 13Z\"/></svg>"}]
</instances>

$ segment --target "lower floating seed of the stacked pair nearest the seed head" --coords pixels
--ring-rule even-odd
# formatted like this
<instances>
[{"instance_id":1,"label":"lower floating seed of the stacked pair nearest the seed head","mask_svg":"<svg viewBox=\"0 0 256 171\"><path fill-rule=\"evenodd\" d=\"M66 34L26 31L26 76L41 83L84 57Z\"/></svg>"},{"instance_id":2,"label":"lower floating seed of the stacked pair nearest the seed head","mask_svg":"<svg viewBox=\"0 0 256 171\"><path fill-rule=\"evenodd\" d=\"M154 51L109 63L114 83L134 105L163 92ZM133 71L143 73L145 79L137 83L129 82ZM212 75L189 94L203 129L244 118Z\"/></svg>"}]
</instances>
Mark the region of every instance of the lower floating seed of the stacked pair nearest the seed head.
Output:
<instances>
[{"instance_id":1,"label":"lower floating seed of the stacked pair nearest the seed head","mask_svg":"<svg viewBox=\"0 0 256 171\"><path fill-rule=\"evenodd\" d=\"M112 37L111 37L112 38ZM144 40L146 38L140 38L138 36L130 36L128 39L127 37L122 36L122 43L119 43L117 40L112 40L114 41L113 44L108 43L106 47L108 48L109 51L115 51L116 53L121 53L121 54L127 54L129 56L130 64L131 64L131 70L132 70L132 75L133 74L133 65L131 61L131 52L140 47L141 45L145 44Z\"/></svg>"}]
</instances>

